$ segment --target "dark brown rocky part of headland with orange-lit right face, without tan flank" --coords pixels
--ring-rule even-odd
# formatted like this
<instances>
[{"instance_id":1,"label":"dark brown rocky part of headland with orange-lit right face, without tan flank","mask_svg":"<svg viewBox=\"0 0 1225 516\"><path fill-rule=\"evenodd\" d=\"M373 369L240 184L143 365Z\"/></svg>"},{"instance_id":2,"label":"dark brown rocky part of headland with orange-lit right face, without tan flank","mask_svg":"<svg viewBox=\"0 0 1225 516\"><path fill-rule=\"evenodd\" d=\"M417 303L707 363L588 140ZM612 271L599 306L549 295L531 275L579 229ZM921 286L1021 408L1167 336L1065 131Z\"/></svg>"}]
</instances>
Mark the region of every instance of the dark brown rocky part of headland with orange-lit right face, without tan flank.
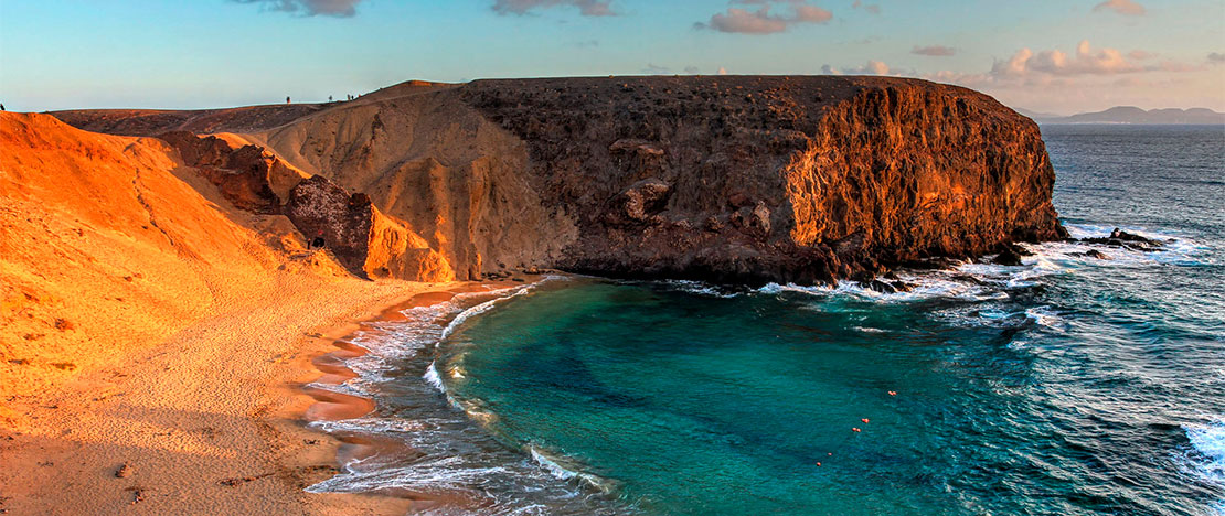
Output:
<instances>
[{"instance_id":1,"label":"dark brown rocky part of headland with orange-lit right face, without tan flank","mask_svg":"<svg viewBox=\"0 0 1225 516\"><path fill-rule=\"evenodd\" d=\"M551 265L715 281L829 281L1062 235L1038 126L969 89L864 77L478 81L579 237ZM663 220L601 199L670 185ZM635 215L643 215L635 212ZM654 214L654 212L652 212ZM726 221L726 224L723 224Z\"/></svg>"}]
</instances>

